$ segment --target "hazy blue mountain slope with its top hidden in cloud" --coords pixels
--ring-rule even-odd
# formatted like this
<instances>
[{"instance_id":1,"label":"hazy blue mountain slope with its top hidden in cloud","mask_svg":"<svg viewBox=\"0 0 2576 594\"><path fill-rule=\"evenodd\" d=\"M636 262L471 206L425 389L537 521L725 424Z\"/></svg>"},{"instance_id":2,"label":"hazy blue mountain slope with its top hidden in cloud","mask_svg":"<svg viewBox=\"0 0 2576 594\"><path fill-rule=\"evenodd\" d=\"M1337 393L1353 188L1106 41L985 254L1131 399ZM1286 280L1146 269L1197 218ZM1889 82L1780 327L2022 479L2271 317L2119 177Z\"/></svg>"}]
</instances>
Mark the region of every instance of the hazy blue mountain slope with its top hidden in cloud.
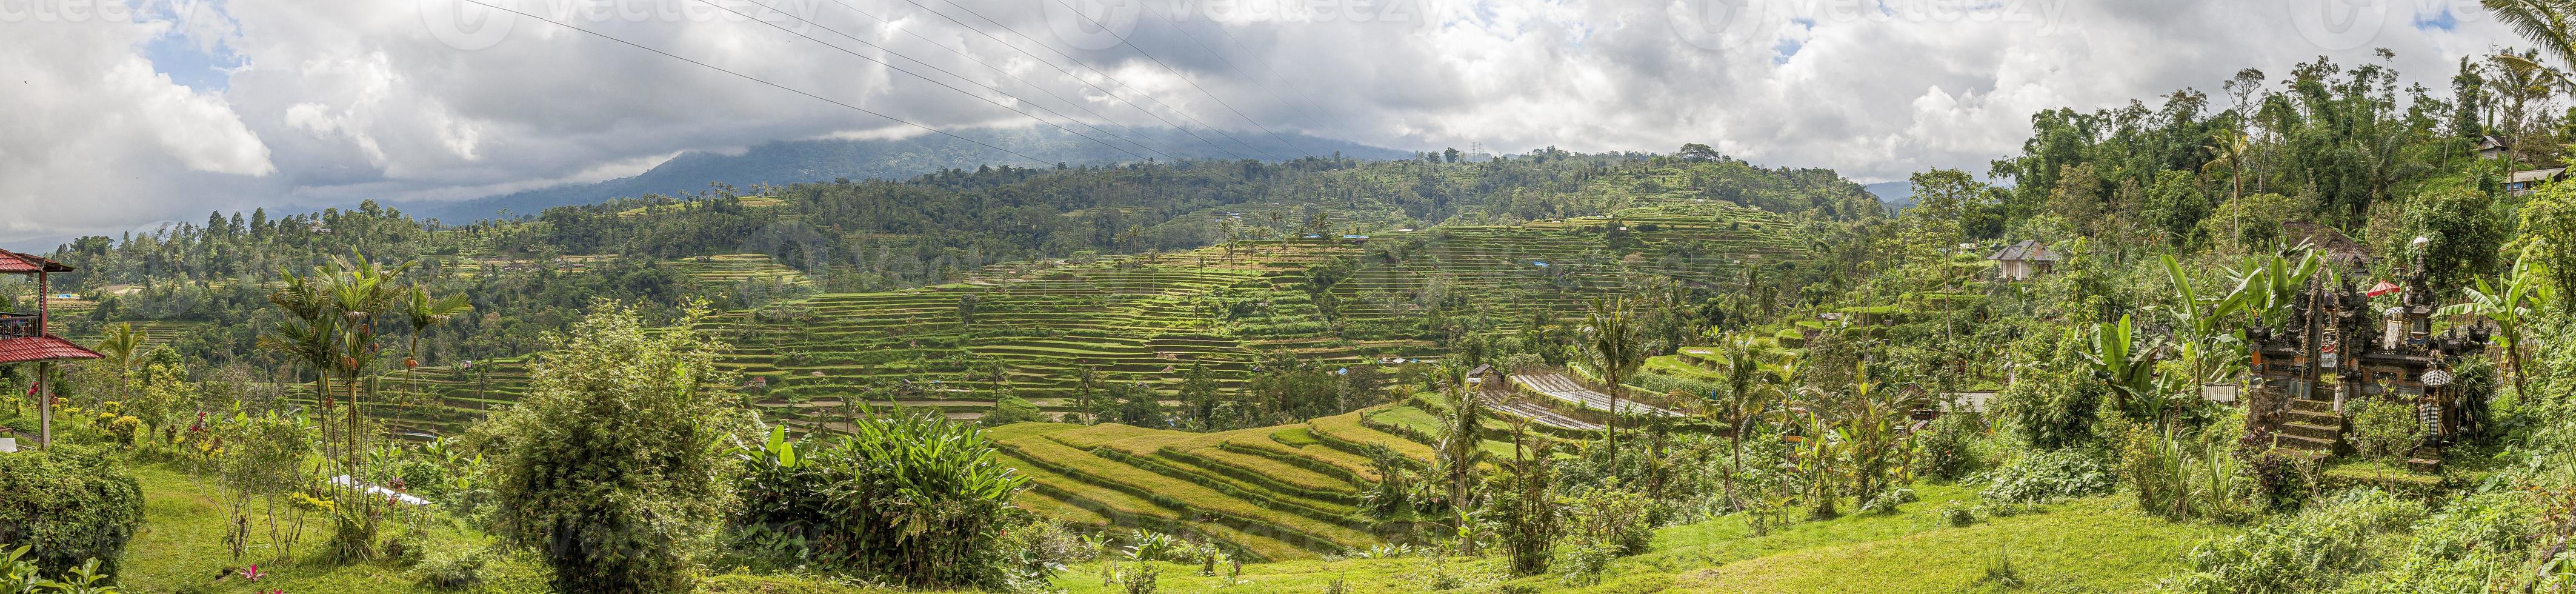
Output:
<instances>
[{"instance_id":1,"label":"hazy blue mountain slope with its top hidden in cloud","mask_svg":"<svg viewBox=\"0 0 2576 594\"><path fill-rule=\"evenodd\" d=\"M1306 134L1285 136L1280 144L1267 134L1231 134L1226 139L1216 131L1182 131L1182 129L1136 129L1136 139L1146 147L1162 149L1175 159L1293 159L1303 154L1329 157L1342 154L1350 159L1406 159L1412 152L1368 147L1340 139L1319 139ZM1123 144L1121 149L1100 147L1097 141L1054 131L1054 129L976 129L958 131L958 136L1002 147L1036 157L1041 162L1061 165L1110 165L1110 162L1136 162L1133 154L1146 154L1164 159L1157 152L1139 149L1136 144ZM1097 134L1095 134L1097 136ZM1249 144L1249 147L1247 147ZM1224 149L1218 149L1224 147ZM716 154L716 152L683 152L670 162L654 165L634 177L616 177L603 183L569 183L536 190L520 190L507 195L487 195L471 201L422 201L402 203L402 211L415 216L430 216L440 221L474 221L492 219L502 211L513 216L538 213L551 206L572 203L600 203L611 198L634 198L647 193L680 195L706 190L708 183L729 183L734 188L750 188L752 183L788 185L788 183L822 183L835 177L850 180L902 180L938 170L974 170L981 165L1018 165L1038 167L1023 157L976 147L963 139L922 134L912 139L811 139L811 141L770 141L752 147L742 154Z\"/></svg>"}]
</instances>

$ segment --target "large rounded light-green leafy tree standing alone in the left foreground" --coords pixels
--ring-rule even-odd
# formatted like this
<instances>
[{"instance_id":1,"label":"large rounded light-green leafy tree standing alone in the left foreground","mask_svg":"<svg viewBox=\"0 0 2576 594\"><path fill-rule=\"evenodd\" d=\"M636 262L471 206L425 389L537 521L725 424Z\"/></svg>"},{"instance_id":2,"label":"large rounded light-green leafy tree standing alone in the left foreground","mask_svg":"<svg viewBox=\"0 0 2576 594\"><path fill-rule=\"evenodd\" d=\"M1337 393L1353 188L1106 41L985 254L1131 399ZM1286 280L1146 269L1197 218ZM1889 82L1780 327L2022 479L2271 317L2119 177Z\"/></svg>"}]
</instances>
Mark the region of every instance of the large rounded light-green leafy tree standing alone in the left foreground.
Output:
<instances>
[{"instance_id":1,"label":"large rounded light-green leafy tree standing alone in the left foreground","mask_svg":"<svg viewBox=\"0 0 2576 594\"><path fill-rule=\"evenodd\" d=\"M497 453L495 530L554 568L556 591L690 591L690 550L734 496L719 445L729 409L721 345L647 332L600 303L538 355L528 399L474 432Z\"/></svg>"}]
</instances>

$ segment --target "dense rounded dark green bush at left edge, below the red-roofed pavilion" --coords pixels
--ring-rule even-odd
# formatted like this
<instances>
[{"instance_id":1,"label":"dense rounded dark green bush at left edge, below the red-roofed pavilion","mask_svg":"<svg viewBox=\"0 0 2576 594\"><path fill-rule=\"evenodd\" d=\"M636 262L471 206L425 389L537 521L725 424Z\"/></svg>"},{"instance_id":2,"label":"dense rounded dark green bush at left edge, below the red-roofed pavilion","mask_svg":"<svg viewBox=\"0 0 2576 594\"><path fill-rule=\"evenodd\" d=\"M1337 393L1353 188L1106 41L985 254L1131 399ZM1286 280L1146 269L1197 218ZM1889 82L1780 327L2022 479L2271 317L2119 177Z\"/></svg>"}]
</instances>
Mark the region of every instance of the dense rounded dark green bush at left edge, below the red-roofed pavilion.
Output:
<instances>
[{"instance_id":1,"label":"dense rounded dark green bush at left edge, below the red-roofed pavilion","mask_svg":"<svg viewBox=\"0 0 2576 594\"><path fill-rule=\"evenodd\" d=\"M44 573L98 561L116 576L144 525L144 489L103 447L54 445L0 455L0 543L28 545Z\"/></svg>"}]
</instances>

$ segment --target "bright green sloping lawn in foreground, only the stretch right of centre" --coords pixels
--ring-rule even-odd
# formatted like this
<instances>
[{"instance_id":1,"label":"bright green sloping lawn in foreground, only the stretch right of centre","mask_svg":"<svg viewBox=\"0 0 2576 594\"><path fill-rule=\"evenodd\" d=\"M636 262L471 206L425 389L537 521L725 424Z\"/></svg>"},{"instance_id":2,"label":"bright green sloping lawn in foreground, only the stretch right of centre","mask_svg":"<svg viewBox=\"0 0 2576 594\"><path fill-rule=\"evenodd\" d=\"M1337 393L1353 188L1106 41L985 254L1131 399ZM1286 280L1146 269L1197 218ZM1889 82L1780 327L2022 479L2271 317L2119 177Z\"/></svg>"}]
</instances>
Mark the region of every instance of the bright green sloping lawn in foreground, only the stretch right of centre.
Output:
<instances>
[{"instance_id":1,"label":"bright green sloping lawn in foreground, only the stretch right of centre","mask_svg":"<svg viewBox=\"0 0 2576 594\"><path fill-rule=\"evenodd\" d=\"M1942 501L1976 501L1960 486L1919 486L1924 501L1899 514L1801 522L1754 537L1744 517L1667 527L1651 550L1620 558L1600 584L1561 576L1510 579L1499 558L1355 558L1244 566L1239 581L1162 566L1159 591L2146 591L2182 568L2184 553L2228 527L2146 517L2128 496L2035 507L2014 517L1940 525ZM2020 586L1981 584L2007 555ZM1218 568L1224 573L1224 568ZM1066 591L1126 591L1103 584L1100 563L1056 579Z\"/></svg>"}]
</instances>

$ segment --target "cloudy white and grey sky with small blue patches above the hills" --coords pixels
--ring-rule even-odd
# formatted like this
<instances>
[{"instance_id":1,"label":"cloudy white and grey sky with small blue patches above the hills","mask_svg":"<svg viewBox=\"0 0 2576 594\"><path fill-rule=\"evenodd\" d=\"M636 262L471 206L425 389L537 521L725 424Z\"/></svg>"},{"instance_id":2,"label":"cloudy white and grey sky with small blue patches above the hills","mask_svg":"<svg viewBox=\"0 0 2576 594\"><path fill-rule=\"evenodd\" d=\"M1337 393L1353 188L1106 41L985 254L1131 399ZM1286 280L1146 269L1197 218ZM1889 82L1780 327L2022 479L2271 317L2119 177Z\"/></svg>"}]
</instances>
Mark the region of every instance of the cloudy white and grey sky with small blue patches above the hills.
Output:
<instances>
[{"instance_id":1,"label":"cloudy white and grey sky with small blue patches above the hills","mask_svg":"<svg viewBox=\"0 0 2576 594\"><path fill-rule=\"evenodd\" d=\"M2514 41L2476 0L0 0L0 242L976 126L1700 141L1878 183L1984 172L2043 108L2226 108L2244 67L2391 49L2447 95Z\"/></svg>"}]
</instances>

